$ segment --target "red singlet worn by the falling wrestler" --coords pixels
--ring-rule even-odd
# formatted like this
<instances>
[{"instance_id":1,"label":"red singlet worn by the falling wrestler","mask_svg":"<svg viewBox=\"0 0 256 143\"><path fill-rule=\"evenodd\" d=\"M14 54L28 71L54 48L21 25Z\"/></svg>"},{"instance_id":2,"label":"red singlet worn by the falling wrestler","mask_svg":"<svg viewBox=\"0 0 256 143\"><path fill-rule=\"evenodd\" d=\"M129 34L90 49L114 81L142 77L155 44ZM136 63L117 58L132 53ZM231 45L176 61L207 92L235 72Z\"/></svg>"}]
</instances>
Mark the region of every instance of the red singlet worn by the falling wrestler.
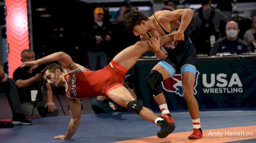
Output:
<instances>
[{"instance_id":1,"label":"red singlet worn by the falling wrestler","mask_svg":"<svg viewBox=\"0 0 256 143\"><path fill-rule=\"evenodd\" d=\"M70 98L92 98L104 95L109 91L122 86L127 69L111 61L102 70L91 71L87 68L78 68L64 76L67 81L66 94Z\"/></svg>"}]
</instances>

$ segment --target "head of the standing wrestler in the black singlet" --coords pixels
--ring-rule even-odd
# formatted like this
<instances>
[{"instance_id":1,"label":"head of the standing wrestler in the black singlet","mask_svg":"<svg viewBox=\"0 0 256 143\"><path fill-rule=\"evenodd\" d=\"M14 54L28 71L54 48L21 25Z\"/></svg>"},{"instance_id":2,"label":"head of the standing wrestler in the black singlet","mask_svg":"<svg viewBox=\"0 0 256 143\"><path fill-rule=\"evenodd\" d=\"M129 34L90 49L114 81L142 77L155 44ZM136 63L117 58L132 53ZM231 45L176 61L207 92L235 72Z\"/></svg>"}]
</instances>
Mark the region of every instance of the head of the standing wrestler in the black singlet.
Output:
<instances>
[{"instance_id":1,"label":"head of the standing wrestler in the black singlet","mask_svg":"<svg viewBox=\"0 0 256 143\"><path fill-rule=\"evenodd\" d=\"M149 30L147 26L148 17L139 10L131 10L124 16L124 25L127 31L135 36L145 36Z\"/></svg>"}]
</instances>

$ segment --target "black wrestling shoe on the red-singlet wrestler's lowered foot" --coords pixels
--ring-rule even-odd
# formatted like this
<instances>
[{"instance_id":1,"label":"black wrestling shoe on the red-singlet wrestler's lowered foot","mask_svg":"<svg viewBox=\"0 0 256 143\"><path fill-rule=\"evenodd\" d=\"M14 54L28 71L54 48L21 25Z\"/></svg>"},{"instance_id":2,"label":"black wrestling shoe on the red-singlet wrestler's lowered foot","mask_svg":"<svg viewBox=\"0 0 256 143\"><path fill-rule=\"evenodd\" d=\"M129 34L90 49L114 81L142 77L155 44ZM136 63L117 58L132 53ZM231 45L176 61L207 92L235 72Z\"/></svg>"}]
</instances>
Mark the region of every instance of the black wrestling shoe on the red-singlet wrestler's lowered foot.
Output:
<instances>
[{"instance_id":1,"label":"black wrestling shoe on the red-singlet wrestler's lowered foot","mask_svg":"<svg viewBox=\"0 0 256 143\"><path fill-rule=\"evenodd\" d=\"M159 130L159 132L157 132L157 137L159 137L159 138L167 137L175 129L174 124L168 123L165 120L157 121L157 126L161 127L161 130Z\"/></svg>"}]
</instances>

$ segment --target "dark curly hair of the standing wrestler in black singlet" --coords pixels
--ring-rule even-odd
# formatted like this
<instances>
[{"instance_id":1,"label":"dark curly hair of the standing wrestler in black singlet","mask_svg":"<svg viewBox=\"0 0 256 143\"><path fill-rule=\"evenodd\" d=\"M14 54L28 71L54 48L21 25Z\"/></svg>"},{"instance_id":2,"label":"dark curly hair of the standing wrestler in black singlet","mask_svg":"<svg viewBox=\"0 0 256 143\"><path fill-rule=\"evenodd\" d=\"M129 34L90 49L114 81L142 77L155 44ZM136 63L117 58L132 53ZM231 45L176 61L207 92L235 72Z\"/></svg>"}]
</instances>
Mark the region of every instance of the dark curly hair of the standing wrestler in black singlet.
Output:
<instances>
[{"instance_id":1,"label":"dark curly hair of the standing wrestler in black singlet","mask_svg":"<svg viewBox=\"0 0 256 143\"><path fill-rule=\"evenodd\" d=\"M148 20L148 17L139 10L131 10L124 16L124 26L127 31L133 31L134 26L140 25L141 20Z\"/></svg>"}]
</instances>

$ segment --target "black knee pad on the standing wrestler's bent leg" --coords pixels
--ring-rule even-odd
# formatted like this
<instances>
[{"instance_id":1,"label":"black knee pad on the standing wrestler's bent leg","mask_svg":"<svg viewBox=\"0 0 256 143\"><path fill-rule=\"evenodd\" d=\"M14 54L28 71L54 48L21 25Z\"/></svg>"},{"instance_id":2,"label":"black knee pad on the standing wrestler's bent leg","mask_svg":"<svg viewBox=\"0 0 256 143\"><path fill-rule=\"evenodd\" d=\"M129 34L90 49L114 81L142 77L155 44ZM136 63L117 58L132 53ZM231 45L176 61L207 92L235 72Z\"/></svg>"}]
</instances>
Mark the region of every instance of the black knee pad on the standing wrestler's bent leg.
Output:
<instances>
[{"instance_id":1,"label":"black knee pad on the standing wrestler's bent leg","mask_svg":"<svg viewBox=\"0 0 256 143\"><path fill-rule=\"evenodd\" d=\"M163 81L163 75L156 70L150 71L147 77L147 86L150 92L153 94L153 98L156 98L160 93L163 93L161 82Z\"/></svg>"}]
</instances>

